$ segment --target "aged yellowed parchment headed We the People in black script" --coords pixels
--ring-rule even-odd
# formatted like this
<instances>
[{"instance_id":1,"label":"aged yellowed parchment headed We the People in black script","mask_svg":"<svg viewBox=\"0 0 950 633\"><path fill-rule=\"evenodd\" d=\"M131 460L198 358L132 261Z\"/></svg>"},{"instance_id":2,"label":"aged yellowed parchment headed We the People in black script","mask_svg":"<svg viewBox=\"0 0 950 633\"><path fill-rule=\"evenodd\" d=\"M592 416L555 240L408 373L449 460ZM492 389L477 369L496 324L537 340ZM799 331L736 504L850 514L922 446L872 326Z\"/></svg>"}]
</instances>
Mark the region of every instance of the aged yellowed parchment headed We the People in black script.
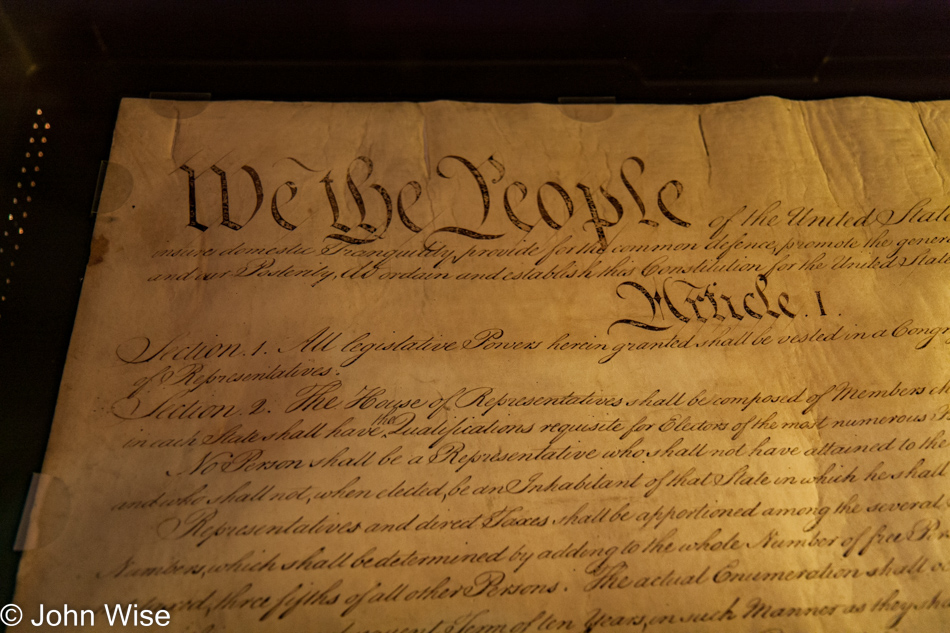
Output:
<instances>
[{"instance_id":1,"label":"aged yellowed parchment headed We the People in black script","mask_svg":"<svg viewBox=\"0 0 950 633\"><path fill-rule=\"evenodd\" d=\"M950 629L950 102L123 102L50 630Z\"/></svg>"}]
</instances>

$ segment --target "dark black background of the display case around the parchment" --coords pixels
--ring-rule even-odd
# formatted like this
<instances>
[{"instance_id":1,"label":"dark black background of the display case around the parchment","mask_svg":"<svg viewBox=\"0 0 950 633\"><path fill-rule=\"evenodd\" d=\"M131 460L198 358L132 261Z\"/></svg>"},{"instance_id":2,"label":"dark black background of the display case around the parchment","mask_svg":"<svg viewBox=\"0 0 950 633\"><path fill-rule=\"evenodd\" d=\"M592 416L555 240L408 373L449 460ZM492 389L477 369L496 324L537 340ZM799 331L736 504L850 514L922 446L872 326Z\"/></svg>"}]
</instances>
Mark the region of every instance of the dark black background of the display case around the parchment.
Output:
<instances>
[{"instance_id":1,"label":"dark black background of the display case around the parchment","mask_svg":"<svg viewBox=\"0 0 950 633\"><path fill-rule=\"evenodd\" d=\"M0 603L13 594L14 537L42 465L119 101L168 92L947 99L950 2L0 0Z\"/></svg>"}]
</instances>

